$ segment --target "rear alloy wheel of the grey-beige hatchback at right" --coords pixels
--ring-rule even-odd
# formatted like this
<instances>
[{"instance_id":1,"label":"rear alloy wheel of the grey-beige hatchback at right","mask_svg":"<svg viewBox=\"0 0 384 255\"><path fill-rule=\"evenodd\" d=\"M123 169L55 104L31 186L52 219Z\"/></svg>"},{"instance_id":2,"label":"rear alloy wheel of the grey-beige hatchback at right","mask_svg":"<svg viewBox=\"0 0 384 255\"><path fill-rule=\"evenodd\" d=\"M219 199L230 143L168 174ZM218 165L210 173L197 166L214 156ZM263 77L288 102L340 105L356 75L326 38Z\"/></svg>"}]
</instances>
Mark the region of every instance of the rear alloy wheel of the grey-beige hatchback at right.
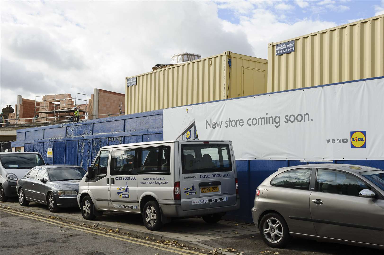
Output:
<instances>
[{"instance_id":1,"label":"rear alloy wheel of the grey-beige hatchback at right","mask_svg":"<svg viewBox=\"0 0 384 255\"><path fill-rule=\"evenodd\" d=\"M283 248L291 236L284 218L277 213L269 213L260 220L260 235L263 241L272 248Z\"/></svg>"}]
</instances>

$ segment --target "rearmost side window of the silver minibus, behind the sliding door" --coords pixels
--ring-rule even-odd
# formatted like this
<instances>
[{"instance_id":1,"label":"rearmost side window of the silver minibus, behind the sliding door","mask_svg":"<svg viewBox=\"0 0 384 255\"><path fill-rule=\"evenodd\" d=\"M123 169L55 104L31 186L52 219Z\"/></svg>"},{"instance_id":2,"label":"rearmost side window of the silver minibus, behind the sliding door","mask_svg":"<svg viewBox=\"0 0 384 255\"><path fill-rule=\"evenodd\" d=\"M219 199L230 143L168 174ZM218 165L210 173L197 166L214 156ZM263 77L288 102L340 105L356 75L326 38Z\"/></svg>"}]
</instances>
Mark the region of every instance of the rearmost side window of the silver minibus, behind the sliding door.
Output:
<instances>
[{"instance_id":1,"label":"rearmost side window of the silver minibus, behind the sliding door","mask_svg":"<svg viewBox=\"0 0 384 255\"><path fill-rule=\"evenodd\" d=\"M170 146L140 149L140 174L170 173Z\"/></svg>"}]
</instances>

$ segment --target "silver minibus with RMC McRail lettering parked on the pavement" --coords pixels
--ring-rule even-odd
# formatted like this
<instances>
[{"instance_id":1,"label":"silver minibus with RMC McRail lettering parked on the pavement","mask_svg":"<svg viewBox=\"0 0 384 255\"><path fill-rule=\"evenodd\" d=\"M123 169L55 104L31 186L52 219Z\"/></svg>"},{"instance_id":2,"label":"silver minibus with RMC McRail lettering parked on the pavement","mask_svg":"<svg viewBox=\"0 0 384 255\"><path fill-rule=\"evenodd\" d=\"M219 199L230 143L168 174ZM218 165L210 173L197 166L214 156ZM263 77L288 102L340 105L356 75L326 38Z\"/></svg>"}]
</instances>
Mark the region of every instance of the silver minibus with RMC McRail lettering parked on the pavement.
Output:
<instances>
[{"instance_id":1,"label":"silver minibus with RMC McRail lettering parked on the pavement","mask_svg":"<svg viewBox=\"0 0 384 255\"><path fill-rule=\"evenodd\" d=\"M172 218L216 223L240 207L230 141L154 141L105 146L81 180L84 219L103 211L142 214L149 230Z\"/></svg>"}]
</instances>

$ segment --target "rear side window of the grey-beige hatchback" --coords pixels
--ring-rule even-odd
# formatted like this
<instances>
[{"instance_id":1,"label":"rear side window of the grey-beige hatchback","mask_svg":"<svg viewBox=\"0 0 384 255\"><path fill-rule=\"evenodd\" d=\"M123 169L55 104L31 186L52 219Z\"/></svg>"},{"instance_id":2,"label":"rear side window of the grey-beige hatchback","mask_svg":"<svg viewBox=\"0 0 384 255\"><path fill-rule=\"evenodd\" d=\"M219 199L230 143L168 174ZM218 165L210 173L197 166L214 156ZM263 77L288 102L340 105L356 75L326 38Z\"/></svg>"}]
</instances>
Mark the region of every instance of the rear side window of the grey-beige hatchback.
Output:
<instances>
[{"instance_id":1,"label":"rear side window of the grey-beige hatchback","mask_svg":"<svg viewBox=\"0 0 384 255\"><path fill-rule=\"evenodd\" d=\"M276 175L271 180L271 185L283 188L310 189L312 168L298 168L285 171Z\"/></svg>"}]
</instances>

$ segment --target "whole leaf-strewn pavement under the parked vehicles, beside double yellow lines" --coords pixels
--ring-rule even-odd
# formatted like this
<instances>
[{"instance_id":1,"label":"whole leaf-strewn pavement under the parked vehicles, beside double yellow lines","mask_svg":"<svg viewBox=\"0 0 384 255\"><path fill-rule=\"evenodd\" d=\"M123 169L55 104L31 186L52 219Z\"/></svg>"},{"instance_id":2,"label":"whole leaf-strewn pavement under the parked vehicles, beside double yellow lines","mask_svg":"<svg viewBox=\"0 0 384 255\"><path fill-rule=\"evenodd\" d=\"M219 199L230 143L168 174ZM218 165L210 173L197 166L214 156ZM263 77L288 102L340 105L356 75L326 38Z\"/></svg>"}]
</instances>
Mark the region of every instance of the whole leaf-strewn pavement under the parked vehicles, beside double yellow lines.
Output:
<instances>
[{"instance_id":1,"label":"whole leaf-strewn pavement under the parked vehicles, beside double yellow lines","mask_svg":"<svg viewBox=\"0 0 384 255\"><path fill-rule=\"evenodd\" d=\"M164 224L161 231L151 231L144 227L141 215L107 212L95 220L84 220L77 208L61 209L58 213L51 213L45 205L31 202L29 206L20 206L17 199L0 202L0 207L23 212L33 212L41 216L52 216L88 226L103 229L118 230L149 239L177 241L187 247L211 252L209 254L284 254L284 255L336 255L336 254L381 254L381 250L343 245L337 243L323 243L313 240L293 238L284 249L271 248L260 237L258 229L253 224L241 224L220 220L216 224L207 224L201 218L173 220ZM2 227L2 226L0 226ZM214 253L212 251L216 251Z\"/></svg>"}]
</instances>

